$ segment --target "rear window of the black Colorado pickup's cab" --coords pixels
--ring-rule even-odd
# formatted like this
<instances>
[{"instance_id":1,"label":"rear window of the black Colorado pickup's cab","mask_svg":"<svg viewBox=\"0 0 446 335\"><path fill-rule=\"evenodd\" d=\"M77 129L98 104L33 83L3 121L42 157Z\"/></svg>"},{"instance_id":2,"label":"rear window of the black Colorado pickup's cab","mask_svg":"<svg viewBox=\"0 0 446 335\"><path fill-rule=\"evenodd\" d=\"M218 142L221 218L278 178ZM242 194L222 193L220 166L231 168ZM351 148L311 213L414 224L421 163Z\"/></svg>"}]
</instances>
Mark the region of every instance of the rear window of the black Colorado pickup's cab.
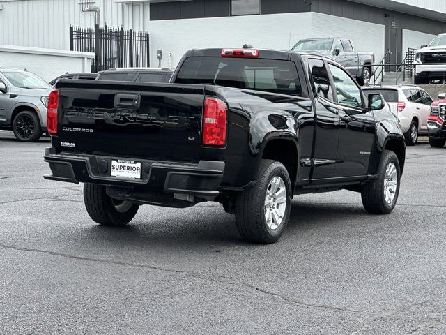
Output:
<instances>
[{"instance_id":1,"label":"rear window of the black Colorado pickup's cab","mask_svg":"<svg viewBox=\"0 0 446 335\"><path fill-rule=\"evenodd\" d=\"M180 68L177 84L209 84L300 96L298 71L292 61L190 57Z\"/></svg>"}]
</instances>

